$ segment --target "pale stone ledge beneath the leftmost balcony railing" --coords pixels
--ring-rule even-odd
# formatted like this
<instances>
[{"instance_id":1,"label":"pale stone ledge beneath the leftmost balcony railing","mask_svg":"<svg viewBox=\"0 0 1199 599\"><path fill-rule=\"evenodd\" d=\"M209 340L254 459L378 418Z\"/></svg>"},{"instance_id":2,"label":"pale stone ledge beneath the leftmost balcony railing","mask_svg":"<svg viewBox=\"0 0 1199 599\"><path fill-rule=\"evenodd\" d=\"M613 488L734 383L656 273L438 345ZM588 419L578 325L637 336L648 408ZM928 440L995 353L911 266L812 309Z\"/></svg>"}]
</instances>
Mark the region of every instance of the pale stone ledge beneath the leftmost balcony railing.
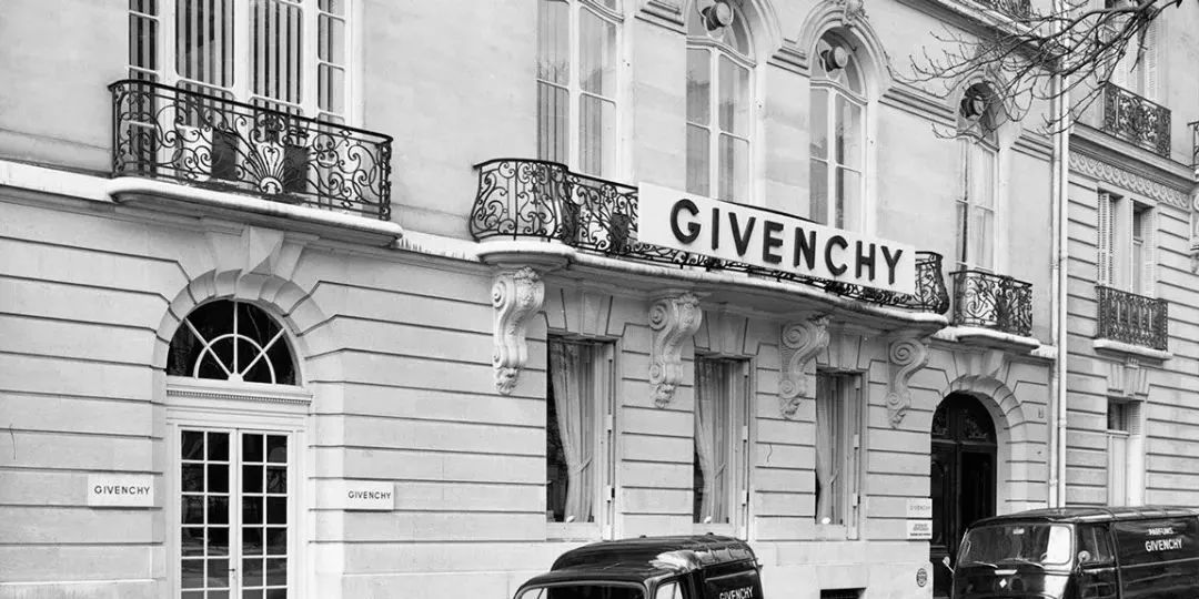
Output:
<instances>
[{"instance_id":1,"label":"pale stone ledge beneath the leftmost balcony railing","mask_svg":"<svg viewBox=\"0 0 1199 599\"><path fill-rule=\"evenodd\" d=\"M107 181L104 190L118 204L150 204L175 210L183 208L183 212L198 216L215 212L237 220L258 220L267 225L290 220L303 225L300 229L306 232L323 237L344 237L373 246L391 247L404 237L404 229L390 220L374 220L168 181L116 177Z\"/></svg>"}]
</instances>

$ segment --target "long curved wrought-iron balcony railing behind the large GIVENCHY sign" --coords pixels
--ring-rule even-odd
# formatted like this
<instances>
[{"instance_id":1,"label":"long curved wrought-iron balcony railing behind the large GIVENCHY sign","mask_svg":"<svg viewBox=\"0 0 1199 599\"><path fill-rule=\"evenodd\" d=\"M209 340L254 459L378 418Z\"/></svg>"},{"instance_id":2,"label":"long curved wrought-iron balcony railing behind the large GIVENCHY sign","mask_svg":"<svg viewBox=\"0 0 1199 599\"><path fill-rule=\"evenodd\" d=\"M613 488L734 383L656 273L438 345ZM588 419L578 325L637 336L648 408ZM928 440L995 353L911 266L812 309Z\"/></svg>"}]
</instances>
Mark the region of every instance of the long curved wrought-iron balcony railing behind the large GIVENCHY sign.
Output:
<instances>
[{"instance_id":1,"label":"long curved wrought-iron balcony railing behind the large GIVENCHY sign","mask_svg":"<svg viewBox=\"0 0 1199 599\"><path fill-rule=\"evenodd\" d=\"M477 168L478 193L470 214L475 240L558 241L623 259L791 280L882 305L938 314L948 309L941 255L933 252L916 253L915 295L882 291L641 243L637 241L637 188L571 173L559 163L500 158Z\"/></svg>"}]
</instances>

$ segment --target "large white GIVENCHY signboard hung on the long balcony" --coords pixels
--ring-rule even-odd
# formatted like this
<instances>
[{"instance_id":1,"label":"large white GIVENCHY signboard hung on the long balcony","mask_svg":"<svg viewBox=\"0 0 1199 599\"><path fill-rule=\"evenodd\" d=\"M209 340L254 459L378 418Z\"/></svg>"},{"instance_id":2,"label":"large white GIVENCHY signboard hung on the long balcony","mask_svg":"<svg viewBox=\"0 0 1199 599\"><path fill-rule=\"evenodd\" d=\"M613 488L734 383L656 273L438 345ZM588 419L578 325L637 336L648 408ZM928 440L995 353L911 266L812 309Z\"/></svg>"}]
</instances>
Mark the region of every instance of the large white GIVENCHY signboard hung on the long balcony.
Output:
<instances>
[{"instance_id":1,"label":"large white GIVENCHY signboard hung on the long balcony","mask_svg":"<svg viewBox=\"0 0 1199 599\"><path fill-rule=\"evenodd\" d=\"M916 291L911 246L767 210L641 183L638 241L900 294Z\"/></svg>"}]
</instances>

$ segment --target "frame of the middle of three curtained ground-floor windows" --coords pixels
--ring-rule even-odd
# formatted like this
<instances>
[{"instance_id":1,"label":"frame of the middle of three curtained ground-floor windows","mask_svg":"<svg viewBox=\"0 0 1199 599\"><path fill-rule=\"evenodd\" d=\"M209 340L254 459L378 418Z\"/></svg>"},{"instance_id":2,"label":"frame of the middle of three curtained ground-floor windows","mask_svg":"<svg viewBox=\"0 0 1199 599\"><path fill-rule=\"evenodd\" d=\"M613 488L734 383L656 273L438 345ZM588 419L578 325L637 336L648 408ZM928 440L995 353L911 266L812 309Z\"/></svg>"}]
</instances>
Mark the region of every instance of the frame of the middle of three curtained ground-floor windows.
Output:
<instances>
[{"instance_id":1,"label":"frame of the middle of three curtained ground-floor windows","mask_svg":"<svg viewBox=\"0 0 1199 599\"><path fill-rule=\"evenodd\" d=\"M735 417L736 420L725 420L725 450L728 452L728 466L725 477L725 489L722 490L727 502L728 522L697 522L694 507L692 508L692 528L695 534L724 534L737 538L748 538L749 531L749 478L752 473L751 450L753 448L753 411L751 381L752 362L747 358L725 358L716 355L697 355L694 361L695 371L695 411L699 411L700 389L700 362L710 362L719 368L722 376L729 379L721 381L721 395L728 400L723 413ZM698 424L698 419L695 420ZM698 455L698 431L693 438ZM698 465L693 465L698 466ZM695 492L694 484L692 492ZM694 501L692 502L694 506Z\"/></svg>"}]
</instances>

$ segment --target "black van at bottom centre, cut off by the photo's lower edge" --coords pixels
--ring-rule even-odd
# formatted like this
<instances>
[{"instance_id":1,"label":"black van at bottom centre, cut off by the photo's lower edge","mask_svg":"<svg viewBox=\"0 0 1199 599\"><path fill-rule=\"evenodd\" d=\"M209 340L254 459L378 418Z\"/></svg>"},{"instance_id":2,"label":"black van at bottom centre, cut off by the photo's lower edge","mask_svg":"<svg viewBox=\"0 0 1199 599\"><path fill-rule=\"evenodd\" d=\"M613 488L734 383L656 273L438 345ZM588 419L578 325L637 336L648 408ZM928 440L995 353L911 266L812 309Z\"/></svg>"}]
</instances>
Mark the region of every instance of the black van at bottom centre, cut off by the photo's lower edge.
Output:
<instances>
[{"instance_id":1,"label":"black van at bottom centre, cut off by the photo's lower edge","mask_svg":"<svg viewBox=\"0 0 1199 599\"><path fill-rule=\"evenodd\" d=\"M516 599L760 599L761 565L729 537L641 537L562 553Z\"/></svg>"}]
</instances>

